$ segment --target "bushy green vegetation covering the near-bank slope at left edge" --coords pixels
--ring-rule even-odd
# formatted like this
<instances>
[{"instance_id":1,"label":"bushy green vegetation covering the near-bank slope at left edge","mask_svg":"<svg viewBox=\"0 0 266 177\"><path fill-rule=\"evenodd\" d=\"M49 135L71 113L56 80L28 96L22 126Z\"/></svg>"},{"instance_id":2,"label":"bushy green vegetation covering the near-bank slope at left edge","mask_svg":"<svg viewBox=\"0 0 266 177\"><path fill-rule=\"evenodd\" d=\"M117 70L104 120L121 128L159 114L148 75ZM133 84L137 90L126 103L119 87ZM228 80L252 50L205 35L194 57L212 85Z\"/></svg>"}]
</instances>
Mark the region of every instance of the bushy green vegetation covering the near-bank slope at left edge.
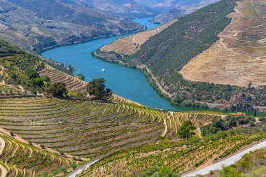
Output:
<instances>
[{"instance_id":1,"label":"bushy green vegetation covering the near-bank slope at left edge","mask_svg":"<svg viewBox=\"0 0 266 177\"><path fill-rule=\"evenodd\" d=\"M43 78L37 73L44 66L40 57L5 41L0 41L0 50L0 65L4 70L2 79L5 84L15 87L22 85L27 90L43 90Z\"/></svg>"}]
</instances>

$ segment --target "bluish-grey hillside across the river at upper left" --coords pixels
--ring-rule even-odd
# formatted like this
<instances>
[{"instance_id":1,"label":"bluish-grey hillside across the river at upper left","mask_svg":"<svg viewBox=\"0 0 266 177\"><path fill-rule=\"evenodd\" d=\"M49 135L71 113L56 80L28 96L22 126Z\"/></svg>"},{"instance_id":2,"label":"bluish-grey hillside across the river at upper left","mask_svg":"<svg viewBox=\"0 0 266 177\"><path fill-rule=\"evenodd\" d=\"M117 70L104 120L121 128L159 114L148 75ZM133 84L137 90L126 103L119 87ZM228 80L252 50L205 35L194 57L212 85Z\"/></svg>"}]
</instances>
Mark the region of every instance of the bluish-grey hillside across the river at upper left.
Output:
<instances>
[{"instance_id":1,"label":"bluish-grey hillside across the river at upper left","mask_svg":"<svg viewBox=\"0 0 266 177\"><path fill-rule=\"evenodd\" d=\"M85 3L1 0L0 5L0 37L34 52L144 29Z\"/></svg>"}]
</instances>

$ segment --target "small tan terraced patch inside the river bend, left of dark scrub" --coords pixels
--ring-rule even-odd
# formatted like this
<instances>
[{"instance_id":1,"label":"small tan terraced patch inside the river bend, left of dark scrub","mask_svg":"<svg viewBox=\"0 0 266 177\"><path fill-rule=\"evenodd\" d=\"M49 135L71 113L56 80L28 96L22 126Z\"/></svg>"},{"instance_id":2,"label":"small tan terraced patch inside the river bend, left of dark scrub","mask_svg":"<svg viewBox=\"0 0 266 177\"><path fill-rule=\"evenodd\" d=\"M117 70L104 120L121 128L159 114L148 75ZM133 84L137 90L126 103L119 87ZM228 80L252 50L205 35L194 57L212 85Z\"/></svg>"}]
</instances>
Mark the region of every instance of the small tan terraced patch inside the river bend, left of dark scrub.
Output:
<instances>
[{"instance_id":1,"label":"small tan terraced patch inside the river bend, left of dark scrub","mask_svg":"<svg viewBox=\"0 0 266 177\"><path fill-rule=\"evenodd\" d=\"M176 21L177 20L172 20L171 22L163 24L162 27L158 27L157 29L150 29L129 37L120 38L111 44L104 45L100 50L104 52L113 51L120 55L132 55L133 53L137 52L137 50L139 50L141 45L143 45L148 40L148 38L151 38L152 36L160 33Z\"/></svg>"}]
</instances>

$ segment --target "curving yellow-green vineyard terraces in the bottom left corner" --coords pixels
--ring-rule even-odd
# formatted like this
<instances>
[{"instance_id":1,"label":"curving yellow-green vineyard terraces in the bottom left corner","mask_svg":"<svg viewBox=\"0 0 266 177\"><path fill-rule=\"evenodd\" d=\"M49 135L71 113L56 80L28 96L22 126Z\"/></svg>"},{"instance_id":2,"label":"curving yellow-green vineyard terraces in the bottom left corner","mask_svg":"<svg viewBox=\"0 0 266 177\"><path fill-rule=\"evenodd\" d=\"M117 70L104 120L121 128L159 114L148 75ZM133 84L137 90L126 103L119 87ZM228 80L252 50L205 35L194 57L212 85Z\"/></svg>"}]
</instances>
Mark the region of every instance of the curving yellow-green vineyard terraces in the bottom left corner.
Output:
<instances>
[{"instance_id":1,"label":"curving yellow-green vineyard terraces in the bottom left corner","mask_svg":"<svg viewBox=\"0 0 266 177\"><path fill-rule=\"evenodd\" d=\"M1 175L38 176L52 169L69 167L73 160L57 154L34 148L0 134L0 169Z\"/></svg>"}]
</instances>

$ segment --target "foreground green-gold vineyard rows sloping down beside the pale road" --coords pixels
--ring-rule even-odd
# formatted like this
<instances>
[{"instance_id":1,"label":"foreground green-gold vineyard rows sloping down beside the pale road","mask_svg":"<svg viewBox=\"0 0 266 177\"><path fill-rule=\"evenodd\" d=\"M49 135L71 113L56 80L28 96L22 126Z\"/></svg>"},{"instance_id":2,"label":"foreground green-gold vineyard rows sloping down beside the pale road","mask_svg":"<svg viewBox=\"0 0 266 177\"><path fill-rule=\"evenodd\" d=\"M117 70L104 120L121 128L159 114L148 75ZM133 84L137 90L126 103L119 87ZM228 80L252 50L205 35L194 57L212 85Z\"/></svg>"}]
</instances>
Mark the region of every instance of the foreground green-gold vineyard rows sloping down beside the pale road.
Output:
<instances>
[{"instance_id":1,"label":"foreground green-gold vineyard rows sloping down beside the pale road","mask_svg":"<svg viewBox=\"0 0 266 177\"><path fill-rule=\"evenodd\" d=\"M158 162L162 162L172 171L181 173L200 167L205 162L212 162L223 155L226 150L235 147L241 148L265 137L265 132L262 132L228 136L214 139L208 143L196 143L193 146L186 146L181 143L170 147L165 146L165 148L160 144L154 145L154 148L151 146L133 148L101 160L80 176L112 176L115 173L120 174L120 176L141 176L143 171L151 169Z\"/></svg>"}]
</instances>

